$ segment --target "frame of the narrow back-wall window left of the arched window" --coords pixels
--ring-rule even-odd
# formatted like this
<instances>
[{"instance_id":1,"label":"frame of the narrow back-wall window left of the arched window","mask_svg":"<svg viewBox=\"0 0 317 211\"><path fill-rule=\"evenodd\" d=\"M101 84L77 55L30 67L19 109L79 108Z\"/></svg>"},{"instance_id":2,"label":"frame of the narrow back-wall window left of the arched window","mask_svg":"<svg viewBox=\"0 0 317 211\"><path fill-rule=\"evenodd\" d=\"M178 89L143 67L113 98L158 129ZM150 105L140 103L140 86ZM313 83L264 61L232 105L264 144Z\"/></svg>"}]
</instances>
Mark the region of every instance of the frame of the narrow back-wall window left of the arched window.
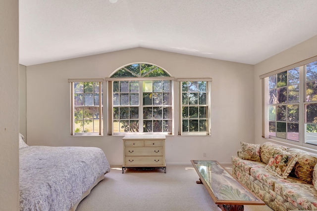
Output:
<instances>
[{"instance_id":1,"label":"frame of the narrow back-wall window left of the arched window","mask_svg":"<svg viewBox=\"0 0 317 211\"><path fill-rule=\"evenodd\" d=\"M70 93L71 93L71 130L70 134L72 136L102 136L103 135L103 79L68 79L70 83ZM99 83L99 105L93 106L82 106L82 107L92 107L99 108L99 132L75 132L75 103L74 103L74 83Z\"/></svg>"}]
</instances>

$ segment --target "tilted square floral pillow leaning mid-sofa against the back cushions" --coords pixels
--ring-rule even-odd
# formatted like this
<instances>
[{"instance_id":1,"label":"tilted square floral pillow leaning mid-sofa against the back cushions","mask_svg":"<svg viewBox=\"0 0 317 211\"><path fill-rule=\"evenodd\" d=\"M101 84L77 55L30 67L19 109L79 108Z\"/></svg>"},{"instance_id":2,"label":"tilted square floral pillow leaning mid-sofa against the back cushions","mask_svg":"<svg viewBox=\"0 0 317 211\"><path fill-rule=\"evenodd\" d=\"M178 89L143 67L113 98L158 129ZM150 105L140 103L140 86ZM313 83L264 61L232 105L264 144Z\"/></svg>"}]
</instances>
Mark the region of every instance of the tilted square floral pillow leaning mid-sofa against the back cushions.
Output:
<instances>
[{"instance_id":1,"label":"tilted square floral pillow leaning mid-sofa against the back cushions","mask_svg":"<svg viewBox=\"0 0 317 211\"><path fill-rule=\"evenodd\" d=\"M283 150L275 150L265 169L274 173L276 176L285 179L293 169L296 161L296 154L291 154Z\"/></svg>"}]
</instances>

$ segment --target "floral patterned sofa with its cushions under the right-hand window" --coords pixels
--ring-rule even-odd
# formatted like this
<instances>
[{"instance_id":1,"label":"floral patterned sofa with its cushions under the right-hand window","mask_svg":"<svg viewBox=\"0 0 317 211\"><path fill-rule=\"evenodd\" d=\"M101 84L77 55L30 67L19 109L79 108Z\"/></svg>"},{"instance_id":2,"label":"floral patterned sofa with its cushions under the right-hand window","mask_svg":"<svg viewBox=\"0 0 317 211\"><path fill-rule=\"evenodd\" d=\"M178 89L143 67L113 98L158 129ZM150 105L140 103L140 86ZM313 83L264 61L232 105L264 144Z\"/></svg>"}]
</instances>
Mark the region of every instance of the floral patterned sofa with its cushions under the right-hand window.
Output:
<instances>
[{"instance_id":1,"label":"floral patterned sofa with its cushions under the right-hand window","mask_svg":"<svg viewBox=\"0 0 317 211\"><path fill-rule=\"evenodd\" d=\"M317 211L317 154L241 142L232 174L274 211Z\"/></svg>"}]
</instances>

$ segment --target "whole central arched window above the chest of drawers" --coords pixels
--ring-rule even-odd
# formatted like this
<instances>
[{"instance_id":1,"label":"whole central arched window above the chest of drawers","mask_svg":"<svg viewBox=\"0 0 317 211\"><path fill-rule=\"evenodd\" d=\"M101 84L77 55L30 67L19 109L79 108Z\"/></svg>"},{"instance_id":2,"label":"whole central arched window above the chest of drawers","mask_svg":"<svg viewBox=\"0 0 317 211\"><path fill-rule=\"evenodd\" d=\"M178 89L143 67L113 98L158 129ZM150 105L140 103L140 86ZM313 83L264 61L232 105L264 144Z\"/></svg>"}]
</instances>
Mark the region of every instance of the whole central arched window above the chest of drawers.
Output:
<instances>
[{"instance_id":1,"label":"whole central arched window above the chest of drawers","mask_svg":"<svg viewBox=\"0 0 317 211\"><path fill-rule=\"evenodd\" d=\"M108 134L173 134L173 77L154 64L135 63L108 81Z\"/></svg>"}]
</instances>

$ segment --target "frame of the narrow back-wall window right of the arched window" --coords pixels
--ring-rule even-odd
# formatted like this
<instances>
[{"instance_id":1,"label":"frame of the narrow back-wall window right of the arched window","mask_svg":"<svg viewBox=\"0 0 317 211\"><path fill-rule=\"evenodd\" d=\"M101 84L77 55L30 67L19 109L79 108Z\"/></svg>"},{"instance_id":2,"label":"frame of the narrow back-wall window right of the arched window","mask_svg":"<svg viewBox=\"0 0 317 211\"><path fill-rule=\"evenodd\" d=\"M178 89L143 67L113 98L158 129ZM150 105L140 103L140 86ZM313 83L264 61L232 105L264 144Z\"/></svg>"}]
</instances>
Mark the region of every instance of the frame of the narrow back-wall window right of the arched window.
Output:
<instances>
[{"instance_id":1,"label":"frame of the narrow back-wall window right of the arched window","mask_svg":"<svg viewBox=\"0 0 317 211\"><path fill-rule=\"evenodd\" d=\"M178 78L177 82L179 82L179 128L178 128L178 134L179 135L211 135L211 82L212 78ZM206 131L183 131L183 115L182 115L182 82L206 82ZM187 105L186 105L187 106ZM197 104L197 107L199 105ZM184 119L185 120L185 119ZM199 118L197 118L199 120Z\"/></svg>"}]
</instances>

